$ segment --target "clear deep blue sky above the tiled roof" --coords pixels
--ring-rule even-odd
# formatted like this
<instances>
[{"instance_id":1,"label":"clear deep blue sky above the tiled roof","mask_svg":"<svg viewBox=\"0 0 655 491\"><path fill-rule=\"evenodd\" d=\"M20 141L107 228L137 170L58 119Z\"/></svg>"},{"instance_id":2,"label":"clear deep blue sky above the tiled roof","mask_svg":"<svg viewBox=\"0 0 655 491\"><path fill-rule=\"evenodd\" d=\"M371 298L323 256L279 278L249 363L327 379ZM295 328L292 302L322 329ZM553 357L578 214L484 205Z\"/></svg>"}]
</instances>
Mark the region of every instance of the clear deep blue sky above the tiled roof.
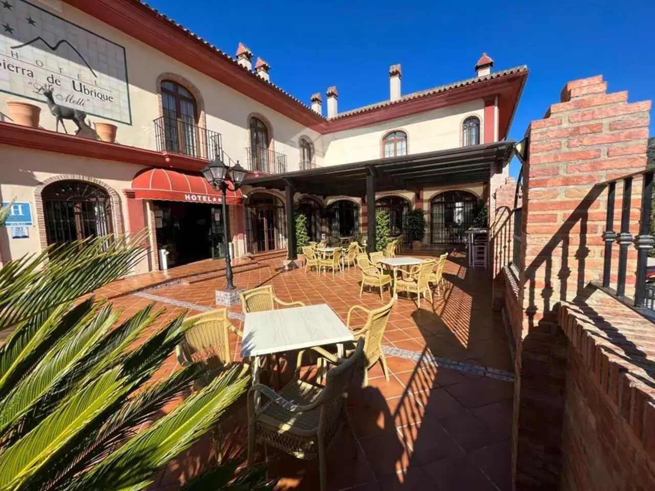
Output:
<instances>
[{"instance_id":1,"label":"clear deep blue sky above the tiled roof","mask_svg":"<svg viewBox=\"0 0 655 491\"><path fill-rule=\"evenodd\" d=\"M273 82L305 103L336 85L339 111L388 99L389 65L402 64L406 94L474 76L483 51L495 70L530 69L510 138L521 139L572 79L602 74L629 101L655 98L654 0L149 4L231 56L243 42L269 62Z\"/></svg>"}]
</instances>

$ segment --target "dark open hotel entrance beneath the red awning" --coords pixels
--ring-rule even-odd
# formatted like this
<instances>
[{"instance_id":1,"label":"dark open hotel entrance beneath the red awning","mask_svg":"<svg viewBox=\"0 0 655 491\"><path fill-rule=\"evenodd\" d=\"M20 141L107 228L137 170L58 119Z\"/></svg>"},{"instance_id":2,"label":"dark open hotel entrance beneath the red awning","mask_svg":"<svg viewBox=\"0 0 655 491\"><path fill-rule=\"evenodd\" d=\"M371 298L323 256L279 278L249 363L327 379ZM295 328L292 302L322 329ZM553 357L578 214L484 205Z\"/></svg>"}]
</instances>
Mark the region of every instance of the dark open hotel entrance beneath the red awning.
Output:
<instances>
[{"instance_id":1,"label":"dark open hotel entrance beneath the red awning","mask_svg":"<svg viewBox=\"0 0 655 491\"><path fill-rule=\"evenodd\" d=\"M155 201L157 248L168 251L168 265L225 257L223 210L218 206Z\"/></svg>"}]
</instances>

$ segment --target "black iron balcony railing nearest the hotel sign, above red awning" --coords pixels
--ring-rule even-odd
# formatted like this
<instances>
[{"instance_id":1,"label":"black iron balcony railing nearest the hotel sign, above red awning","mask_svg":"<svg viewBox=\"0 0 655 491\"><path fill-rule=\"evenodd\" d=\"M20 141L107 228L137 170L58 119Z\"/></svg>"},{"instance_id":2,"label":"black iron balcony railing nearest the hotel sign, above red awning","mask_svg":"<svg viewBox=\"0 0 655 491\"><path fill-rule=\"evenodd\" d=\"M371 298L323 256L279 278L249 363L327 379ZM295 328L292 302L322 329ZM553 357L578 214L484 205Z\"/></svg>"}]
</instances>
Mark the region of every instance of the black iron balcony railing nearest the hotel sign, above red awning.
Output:
<instances>
[{"instance_id":1,"label":"black iron balcony railing nearest the hotel sign, above red awning","mask_svg":"<svg viewBox=\"0 0 655 491\"><path fill-rule=\"evenodd\" d=\"M154 122L158 152L173 152L206 160L223 155L220 133L168 116L159 117Z\"/></svg>"}]
</instances>

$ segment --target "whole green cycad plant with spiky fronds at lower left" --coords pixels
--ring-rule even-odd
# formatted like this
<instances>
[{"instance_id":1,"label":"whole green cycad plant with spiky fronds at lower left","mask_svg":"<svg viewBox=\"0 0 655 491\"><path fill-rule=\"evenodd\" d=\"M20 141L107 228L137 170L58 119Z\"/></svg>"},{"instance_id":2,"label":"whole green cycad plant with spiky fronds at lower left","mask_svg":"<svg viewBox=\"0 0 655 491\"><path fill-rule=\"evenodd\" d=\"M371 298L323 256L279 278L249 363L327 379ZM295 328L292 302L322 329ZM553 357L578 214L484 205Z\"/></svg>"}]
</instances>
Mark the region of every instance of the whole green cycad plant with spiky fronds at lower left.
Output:
<instances>
[{"instance_id":1,"label":"whole green cycad plant with spiky fronds at lower left","mask_svg":"<svg viewBox=\"0 0 655 491\"><path fill-rule=\"evenodd\" d=\"M1 491L144 489L245 390L248 378L227 371L157 418L199 375L191 365L152 379L191 326L181 315L162 323L153 305L119 322L119 310L88 297L130 271L142 241L94 238L0 268L0 331L10 331L0 347ZM261 468L234 479L237 465L183 489L272 489Z\"/></svg>"}]
</instances>

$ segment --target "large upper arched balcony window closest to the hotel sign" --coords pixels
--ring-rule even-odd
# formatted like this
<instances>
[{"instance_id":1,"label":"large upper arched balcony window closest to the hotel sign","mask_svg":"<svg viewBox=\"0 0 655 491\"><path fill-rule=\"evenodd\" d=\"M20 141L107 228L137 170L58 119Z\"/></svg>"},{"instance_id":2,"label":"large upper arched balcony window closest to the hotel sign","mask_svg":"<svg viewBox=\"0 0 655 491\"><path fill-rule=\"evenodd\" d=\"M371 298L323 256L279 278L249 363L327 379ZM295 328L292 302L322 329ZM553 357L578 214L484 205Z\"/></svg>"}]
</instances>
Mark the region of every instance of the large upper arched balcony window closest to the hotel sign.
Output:
<instances>
[{"instance_id":1,"label":"large upper arched balcony window closest to the hotel sign","mask_svg":"<svg viewBox=\"0 0 655 491\"><path fill-rule=\"evenodd\" d=\"M200 157L198 110L193 94L180 84L161 82L165 148L169 152Z\"/></svg>"}]
</instances>

